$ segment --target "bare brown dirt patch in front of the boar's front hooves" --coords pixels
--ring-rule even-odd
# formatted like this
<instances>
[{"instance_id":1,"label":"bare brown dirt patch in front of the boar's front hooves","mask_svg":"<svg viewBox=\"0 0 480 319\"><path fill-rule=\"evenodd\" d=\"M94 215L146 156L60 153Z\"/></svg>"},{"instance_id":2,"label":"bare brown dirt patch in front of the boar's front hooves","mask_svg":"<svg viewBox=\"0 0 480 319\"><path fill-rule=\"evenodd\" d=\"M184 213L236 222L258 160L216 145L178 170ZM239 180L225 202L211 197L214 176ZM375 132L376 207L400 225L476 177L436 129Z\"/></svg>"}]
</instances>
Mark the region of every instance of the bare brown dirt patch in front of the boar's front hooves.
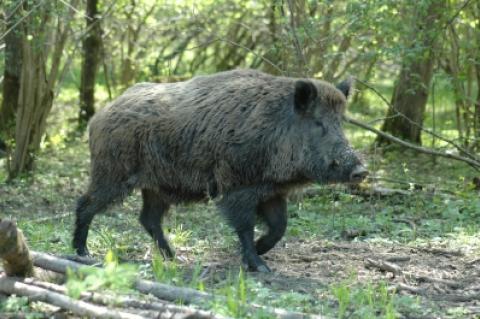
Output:
<instances>
[{"instance_id":1,"label":"bare brown dirt patch in front of the boar's front hooves","mask_svg":"<svg viewBox=\"0 0 480 319\"><path fill-rule=\"evenodd\" d=\"M210 257L209 273L217 280L240 262L234 252ZM273 273L248 275L276 291L321 298L322 291L354 276L358 283L381 281L397 295L419 296L439 313L452 307L465 308L464 318L480 313L480 259L461 251L299 240L282 242L264 258Z\"/></svg>"}]
</instances>

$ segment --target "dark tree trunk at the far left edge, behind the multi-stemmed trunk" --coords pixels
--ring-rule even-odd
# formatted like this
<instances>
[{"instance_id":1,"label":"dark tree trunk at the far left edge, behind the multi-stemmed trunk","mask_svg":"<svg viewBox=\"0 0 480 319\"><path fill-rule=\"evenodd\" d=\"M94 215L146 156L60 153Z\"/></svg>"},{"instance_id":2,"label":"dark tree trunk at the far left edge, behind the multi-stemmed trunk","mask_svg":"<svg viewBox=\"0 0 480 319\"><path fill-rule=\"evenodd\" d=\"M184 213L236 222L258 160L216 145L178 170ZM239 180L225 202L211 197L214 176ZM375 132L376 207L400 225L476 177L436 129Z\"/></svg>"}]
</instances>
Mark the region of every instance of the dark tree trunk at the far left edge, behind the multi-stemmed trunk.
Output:
<instances>
[{"instance_id":1,"label":"dark tree trunk at the far left edge, behind the multi-stemmed trunk","mask_svg":"<svg viewBox=\"0 0 480 319\"><path fill-rule=\"evenodd\" d=\"M0 135L8 141L13 137L15 112L18 107L20 73L22 69L22 32L15 27L21 17L17 1L7 1L5 10L6 30L13 28L5 37L5 70L3 72L3 101L0 108Z\"/></svg>"}]
</instances>

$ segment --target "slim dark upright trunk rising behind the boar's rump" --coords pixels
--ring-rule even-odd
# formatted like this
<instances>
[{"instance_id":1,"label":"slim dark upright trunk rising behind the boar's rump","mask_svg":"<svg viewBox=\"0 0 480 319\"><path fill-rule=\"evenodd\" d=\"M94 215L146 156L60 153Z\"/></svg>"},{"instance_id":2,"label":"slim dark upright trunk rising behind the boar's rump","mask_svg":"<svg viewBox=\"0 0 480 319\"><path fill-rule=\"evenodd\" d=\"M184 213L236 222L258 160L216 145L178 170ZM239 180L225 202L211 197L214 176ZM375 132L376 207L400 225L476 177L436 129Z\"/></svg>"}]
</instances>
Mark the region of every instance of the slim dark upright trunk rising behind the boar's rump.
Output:
<instances>
[{"instance_id":1,"label":"slim dark upright trunk rising behind the boar's rump","mask_svg":"<svg viewBox=\"0 0 480 319\"><path fill-rule=\"evenodd\" d=\"M101 48L101 28L98 19L98 0L88 0L86 9L87 35L83 40L82 76L80 82L79 127L85 128L95 113L95 79Z\"/></svg>"}]
</instances>

